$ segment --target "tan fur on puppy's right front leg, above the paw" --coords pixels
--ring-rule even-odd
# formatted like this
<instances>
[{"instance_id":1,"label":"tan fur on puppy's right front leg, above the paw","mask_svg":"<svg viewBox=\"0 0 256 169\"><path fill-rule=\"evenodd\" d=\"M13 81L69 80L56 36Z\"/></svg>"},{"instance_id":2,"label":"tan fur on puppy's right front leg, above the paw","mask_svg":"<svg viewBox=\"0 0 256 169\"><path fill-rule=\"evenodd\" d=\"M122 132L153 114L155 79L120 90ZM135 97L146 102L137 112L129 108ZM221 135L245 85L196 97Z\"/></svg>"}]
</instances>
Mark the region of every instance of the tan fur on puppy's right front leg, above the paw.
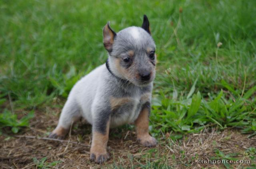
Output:
<instances>
[{"instance_id":1,"label":"tan fur on puppy's right front leg, above the paw","mask_svg":"<svg viewBox=\"0 0 256 169\"><path fill-rule=\"evenodd\" d=\"M144 136L146 137L148 135L148 115L148 108L144 108L140 112L138 118L135 120L137 138L139 139L143 138Z\"/></svg>"}]
</instances>

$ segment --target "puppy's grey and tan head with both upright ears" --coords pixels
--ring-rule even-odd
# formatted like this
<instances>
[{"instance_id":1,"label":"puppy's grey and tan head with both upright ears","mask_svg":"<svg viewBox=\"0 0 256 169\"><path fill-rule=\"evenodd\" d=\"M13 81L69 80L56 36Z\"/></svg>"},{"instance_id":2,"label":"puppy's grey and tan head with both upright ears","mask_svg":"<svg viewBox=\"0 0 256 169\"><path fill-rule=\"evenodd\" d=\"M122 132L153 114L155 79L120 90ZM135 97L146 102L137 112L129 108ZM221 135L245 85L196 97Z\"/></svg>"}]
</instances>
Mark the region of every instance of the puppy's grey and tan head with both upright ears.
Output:
<instances>
[{"instance_id":1,"label":"puppy's grey and tan head with both upright ears","mask_svg":"<svg viewBox=\"0 0 256 169\"><path fill-rule=\"evenodd\" d=\"M109 53L112 73L136 86L146 86L155 78L156 45L146 15L142 27L128 27L115 33L108 24L103 28L103 43Z\"/></svg>"}]
</instances>

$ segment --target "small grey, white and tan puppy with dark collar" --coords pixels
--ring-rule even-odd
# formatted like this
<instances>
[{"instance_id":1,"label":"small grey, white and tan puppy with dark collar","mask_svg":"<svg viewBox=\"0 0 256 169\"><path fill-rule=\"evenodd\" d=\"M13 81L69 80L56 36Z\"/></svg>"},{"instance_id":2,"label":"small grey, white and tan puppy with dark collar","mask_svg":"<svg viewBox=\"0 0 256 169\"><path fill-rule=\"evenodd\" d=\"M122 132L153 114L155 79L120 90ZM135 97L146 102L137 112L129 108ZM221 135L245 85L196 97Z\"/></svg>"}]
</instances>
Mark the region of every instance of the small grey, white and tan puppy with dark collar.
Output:
<instances>
[{"instance_id":1,"label":"small grey, white and tan puppy with dark collar","mask_svg":"<svg viewBox=\"0 0 256 169\"><path fill-rule=\"evenodd\" d=\"M109 129L132 123L138 141L156 145L148 133L150 102L156 68L156 45L146 15L142 27L115 33L109 22L103 28L108 60L74 85L49 137L65 136L72 122L84 118L92 124L90 160L103 163L110 157L106 147Z\"/></svg>"}]
</instances>

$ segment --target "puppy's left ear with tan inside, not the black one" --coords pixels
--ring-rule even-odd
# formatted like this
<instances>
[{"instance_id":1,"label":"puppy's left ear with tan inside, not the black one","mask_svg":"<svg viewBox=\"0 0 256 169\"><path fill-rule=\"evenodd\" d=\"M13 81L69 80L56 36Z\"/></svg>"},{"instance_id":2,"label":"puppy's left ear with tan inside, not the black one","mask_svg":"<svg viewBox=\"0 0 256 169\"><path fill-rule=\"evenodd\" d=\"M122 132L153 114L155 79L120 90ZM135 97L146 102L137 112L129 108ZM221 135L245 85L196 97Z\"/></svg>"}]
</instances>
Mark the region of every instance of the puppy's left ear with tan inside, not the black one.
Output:
<instances>
[{"instance_id":1,"label":"puppy's left ear with tan inside, not the black one","mask_svg":"<svg viewBox=\"0 0 256 169\"><path fill-rule=\"evenodd\" d=\"M116 33L110 28L109 22L103 28L103 44L105 49L110 53L114 43Z\"/></svg>"}]
</instances>

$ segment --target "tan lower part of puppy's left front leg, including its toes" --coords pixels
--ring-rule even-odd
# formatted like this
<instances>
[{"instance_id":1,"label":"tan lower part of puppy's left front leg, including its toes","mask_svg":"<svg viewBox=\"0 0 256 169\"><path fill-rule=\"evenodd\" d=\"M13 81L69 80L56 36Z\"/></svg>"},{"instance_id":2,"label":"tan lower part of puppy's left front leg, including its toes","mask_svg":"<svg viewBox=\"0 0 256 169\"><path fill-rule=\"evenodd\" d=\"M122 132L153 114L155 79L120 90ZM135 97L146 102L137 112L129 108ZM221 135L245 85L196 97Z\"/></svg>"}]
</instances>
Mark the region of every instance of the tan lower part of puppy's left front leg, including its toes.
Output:
<instances>
[{"instance_id":1,"label":"tan lower part of puppy's left front leg, including its toes","mask_svg":"<svg viewBox=\"0 0 256 169\"><path fill-rule=\"evenodd\" d=\"M92 147L90 149L90 160L96 163L103 163L107 161L110 157L107 153L107 143L109 134L109 123L106 126L106 134L93 131L92 132Z\"/></svg>"}]
</instances>

